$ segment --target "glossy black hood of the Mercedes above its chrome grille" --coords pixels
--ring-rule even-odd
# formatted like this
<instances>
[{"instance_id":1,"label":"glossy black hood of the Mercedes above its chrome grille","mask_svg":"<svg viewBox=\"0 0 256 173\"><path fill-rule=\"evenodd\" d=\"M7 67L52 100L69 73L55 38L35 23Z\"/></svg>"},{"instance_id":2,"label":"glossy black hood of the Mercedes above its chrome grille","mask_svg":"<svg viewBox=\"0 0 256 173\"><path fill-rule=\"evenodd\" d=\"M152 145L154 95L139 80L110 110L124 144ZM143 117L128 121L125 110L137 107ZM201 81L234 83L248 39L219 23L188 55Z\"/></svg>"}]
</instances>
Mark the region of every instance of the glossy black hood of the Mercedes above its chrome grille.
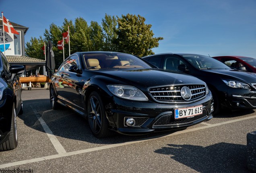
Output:
<instances>
[{"instance_id":1,"label":"glossy black hood of the Mercedes above its chrome grille","mask_svg":"<svg viewBox=\"0 0 256 173\"><path fill-rule=\"evenodd\" d=\"M144 90L149 87L172 84L204 84L202 80L194 76L162 69L98 70L96 73L121 80Z\"/></svg>"}]
</instances>

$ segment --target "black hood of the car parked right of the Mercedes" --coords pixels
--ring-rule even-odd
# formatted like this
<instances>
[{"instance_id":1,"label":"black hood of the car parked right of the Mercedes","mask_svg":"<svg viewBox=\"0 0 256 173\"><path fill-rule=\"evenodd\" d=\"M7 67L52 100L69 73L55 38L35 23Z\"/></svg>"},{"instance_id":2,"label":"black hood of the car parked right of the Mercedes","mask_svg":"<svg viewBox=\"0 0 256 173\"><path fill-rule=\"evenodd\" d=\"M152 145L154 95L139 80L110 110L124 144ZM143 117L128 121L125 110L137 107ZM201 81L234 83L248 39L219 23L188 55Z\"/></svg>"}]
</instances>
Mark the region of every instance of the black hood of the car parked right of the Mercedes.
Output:
<instances>
[{"instance_id":1,"label":"black hood of the car parked right of the Mercedes","mask_svg":"<svg viewBox=\"0 0 256 173\"><path fill-rule=\"evenodd\" d=\"M228 69L208 69L208 70L200 70L203 71L203 75L207 75L207 73L211 76L218 76L226 79L239 80L245 83L256 83L256 73L245 72L239 70L228 70Z\"/></svg>"}]
</instances>

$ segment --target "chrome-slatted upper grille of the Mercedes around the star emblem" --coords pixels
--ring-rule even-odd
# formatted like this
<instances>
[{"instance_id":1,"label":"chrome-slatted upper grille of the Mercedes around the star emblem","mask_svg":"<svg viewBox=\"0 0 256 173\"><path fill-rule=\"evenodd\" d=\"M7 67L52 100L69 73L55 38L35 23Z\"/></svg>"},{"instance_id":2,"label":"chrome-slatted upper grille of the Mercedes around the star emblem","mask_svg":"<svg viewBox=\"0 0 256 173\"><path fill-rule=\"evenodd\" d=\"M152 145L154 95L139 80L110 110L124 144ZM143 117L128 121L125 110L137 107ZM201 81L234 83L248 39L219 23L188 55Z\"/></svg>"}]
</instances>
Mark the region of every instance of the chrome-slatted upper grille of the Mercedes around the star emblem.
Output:
<instances>
[{"instance_id":1,"label":"chrome-slatted upper grille of the Mercedes around the star emblem","mask_svg":"<svg viewBox=\"0 0 256 173\"><path fill-rule=\"evenodd\" d=\"M149 89L151 95L158 101L186 101L182 98L180 90L182 87L188 87L192 93L191 100L199 99L206 95L204 85L172 85L164 87L155 87Z\"/></svg>"}]
</instances>

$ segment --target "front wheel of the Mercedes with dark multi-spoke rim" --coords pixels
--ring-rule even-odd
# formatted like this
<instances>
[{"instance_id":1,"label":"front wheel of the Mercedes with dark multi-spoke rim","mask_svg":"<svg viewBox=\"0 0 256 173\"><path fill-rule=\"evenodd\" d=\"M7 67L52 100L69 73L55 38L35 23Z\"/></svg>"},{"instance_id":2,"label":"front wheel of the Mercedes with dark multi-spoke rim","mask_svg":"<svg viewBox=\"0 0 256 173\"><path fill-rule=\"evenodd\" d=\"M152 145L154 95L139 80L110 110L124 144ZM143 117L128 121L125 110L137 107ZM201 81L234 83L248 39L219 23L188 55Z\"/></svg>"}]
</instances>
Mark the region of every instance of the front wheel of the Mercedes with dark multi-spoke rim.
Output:
<instances>
[{"instance_id":1,"label":"front wheel of the Mercedes with dark multi-spoke rim","mask_svg":"<svg viewBox=\"0 0 256 173\"><path fill-rule=\"evenodd\" d=\"M103 103L95 91L91 93L87 101L87 115L89 126L95 137L103 138L111 135Z\"/></svg>"}]
</instances>

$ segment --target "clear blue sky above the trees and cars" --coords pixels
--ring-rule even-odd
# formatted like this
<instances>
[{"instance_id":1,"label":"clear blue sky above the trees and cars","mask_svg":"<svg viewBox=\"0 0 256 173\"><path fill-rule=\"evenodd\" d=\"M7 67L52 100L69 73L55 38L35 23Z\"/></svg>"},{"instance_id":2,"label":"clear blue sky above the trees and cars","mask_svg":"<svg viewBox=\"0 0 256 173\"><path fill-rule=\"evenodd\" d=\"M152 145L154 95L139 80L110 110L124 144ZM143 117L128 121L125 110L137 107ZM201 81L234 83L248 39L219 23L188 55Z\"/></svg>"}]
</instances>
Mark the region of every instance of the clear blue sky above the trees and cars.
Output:
<instances>
[{"instance_id":1,"label":"clear blue sky above the trees and cars","mask_svg":"<svg viewBox=\"0 0 256 173\"><path fill-rule=\"evenodd\" d=\"M240 55L256 58L256 0L0 0L12 22L29 27L25 42L43 36L50 24L84 18L101 24L105 14L146 18L157 53Z\"/></svg>"}]
</instances>

